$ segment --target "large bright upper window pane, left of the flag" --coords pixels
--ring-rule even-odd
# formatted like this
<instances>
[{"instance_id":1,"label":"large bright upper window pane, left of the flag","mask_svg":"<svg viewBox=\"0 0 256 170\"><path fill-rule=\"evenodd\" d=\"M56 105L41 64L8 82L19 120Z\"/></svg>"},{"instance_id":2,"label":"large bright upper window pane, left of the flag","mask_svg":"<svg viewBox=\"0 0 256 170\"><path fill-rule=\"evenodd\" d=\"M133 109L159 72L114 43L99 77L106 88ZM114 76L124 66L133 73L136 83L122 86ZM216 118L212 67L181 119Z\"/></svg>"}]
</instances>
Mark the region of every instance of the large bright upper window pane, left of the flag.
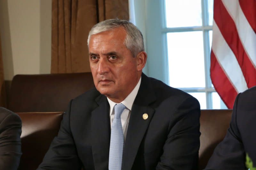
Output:
<instances>
[{"instance_id":1,"label":"large bright upper window pane, left of the flag","mask_svg":"<svg viewBox=\"0 0 256 170\"><path fill-rule=\"evenodd\" d=\"M165 0L167 27L202 26L201 0Z\"/></svg>"}]
</instances>

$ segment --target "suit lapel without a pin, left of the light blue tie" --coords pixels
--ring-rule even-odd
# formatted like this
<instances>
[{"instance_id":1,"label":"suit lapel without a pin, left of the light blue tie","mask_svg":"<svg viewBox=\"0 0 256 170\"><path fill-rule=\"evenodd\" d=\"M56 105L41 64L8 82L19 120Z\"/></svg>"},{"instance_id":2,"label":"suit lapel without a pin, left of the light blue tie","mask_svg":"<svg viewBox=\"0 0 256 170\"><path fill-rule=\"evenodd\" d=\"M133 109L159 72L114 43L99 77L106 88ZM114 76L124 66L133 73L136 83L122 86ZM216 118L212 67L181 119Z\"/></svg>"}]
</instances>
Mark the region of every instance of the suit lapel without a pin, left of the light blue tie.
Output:
<instances>
[{"instance_id":1,"label":"suit lapel without a pin, left of the light blue tie","mask_svg":"<svg viewBox=\"0 0 256 170\"><path fill-rule=\"evenodd\" d=\"M92 111L92 155L95 169L108 169L110 144L110 119L107 98L96 98L99 105Z\"/></svg>"}]
</instances>

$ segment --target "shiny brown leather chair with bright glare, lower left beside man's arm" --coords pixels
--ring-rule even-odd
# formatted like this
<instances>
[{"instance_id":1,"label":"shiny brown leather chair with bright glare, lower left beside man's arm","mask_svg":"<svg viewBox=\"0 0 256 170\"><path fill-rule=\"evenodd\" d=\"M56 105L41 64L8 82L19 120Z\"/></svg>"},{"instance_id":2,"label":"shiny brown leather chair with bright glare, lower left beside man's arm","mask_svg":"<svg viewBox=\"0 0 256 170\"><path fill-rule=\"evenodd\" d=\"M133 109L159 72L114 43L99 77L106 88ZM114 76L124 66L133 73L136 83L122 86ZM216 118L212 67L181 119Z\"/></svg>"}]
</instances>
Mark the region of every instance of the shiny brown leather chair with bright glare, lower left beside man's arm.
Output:
<instances>
[{"instance_id":1,"label":"shiny brown leather chair with bright glare, lower left beside man's arm","mask_svg":"<svg viewBox=\"0 0 256 170\"><path fill-rule=\"evenodd\" d=\"M35 170L58 134L63 112L17 113L22 121L20 170Z\"/></svg>"}]
</instances>

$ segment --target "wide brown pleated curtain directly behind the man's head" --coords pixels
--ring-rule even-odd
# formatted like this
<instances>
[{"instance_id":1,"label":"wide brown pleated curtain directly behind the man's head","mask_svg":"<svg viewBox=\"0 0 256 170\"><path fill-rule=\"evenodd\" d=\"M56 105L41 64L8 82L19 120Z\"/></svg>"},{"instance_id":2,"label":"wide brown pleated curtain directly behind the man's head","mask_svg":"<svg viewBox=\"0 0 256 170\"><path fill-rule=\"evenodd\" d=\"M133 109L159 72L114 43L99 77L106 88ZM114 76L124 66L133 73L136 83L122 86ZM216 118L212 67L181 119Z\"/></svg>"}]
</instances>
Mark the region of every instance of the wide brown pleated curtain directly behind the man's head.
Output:
<instances>
[{"instance_id":1,"label":"wide brown pleated curtain directly behind the man's head","mask_svg":"<svg viewBox=\"0 0 256 170\"><path fill-rule=\"evenodd\" d=\"M128 0L52 0L51 73L90 71L88 33L110 18L128 20Z\"/></svg>"}]
</instances>

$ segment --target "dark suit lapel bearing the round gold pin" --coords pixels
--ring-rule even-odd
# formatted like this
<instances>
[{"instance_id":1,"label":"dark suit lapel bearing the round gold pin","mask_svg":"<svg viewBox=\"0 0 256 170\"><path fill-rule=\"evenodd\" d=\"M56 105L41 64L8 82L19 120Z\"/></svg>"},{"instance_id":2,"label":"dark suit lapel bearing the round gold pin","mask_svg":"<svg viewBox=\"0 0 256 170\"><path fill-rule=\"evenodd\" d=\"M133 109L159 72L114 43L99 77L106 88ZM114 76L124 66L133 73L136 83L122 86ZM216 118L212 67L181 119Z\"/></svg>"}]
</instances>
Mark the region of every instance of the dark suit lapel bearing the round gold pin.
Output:
<instances>
[{"instance_id":1,"label":"dark suit lapel bearing the round gold pin","mask_svg":"<svg viewBox=\"0 0 256 170\"><path fill-rule=\"evenodd\" d=\"M155 100L156 95L151 84L149 83L148 77L142 74L140 88L132 106L124 145L122 164L123 170L132 169L140 143L146 130L148 129L148 124L155 113L155 110L150 107L149 104L153 103ZM145 113L148 114L148 118L144 120L142 116Z\"/></svg>"}]
</instances>

